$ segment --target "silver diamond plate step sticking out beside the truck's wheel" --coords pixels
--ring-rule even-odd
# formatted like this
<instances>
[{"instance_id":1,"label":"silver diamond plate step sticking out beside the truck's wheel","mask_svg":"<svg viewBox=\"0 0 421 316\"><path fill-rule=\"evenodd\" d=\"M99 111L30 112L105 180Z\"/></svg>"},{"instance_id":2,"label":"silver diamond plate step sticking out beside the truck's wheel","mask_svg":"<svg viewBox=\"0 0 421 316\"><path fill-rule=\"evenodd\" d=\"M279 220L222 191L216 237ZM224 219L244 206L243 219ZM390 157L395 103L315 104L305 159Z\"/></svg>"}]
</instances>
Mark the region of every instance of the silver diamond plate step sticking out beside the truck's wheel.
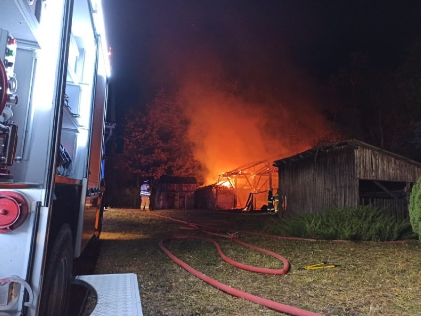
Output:
<instances>
[{"instance_id":1,"label":"silver diamond plate step sticking out beside the truck's wheel","mask_svg":"<svg viewBox=\"0 0 421 316\"><path fill-rule=\"evenodd\" d=\"M93 287L96 307L90 316L143 316L134 273L76 276Z\"/></svg>"}]
</instances>

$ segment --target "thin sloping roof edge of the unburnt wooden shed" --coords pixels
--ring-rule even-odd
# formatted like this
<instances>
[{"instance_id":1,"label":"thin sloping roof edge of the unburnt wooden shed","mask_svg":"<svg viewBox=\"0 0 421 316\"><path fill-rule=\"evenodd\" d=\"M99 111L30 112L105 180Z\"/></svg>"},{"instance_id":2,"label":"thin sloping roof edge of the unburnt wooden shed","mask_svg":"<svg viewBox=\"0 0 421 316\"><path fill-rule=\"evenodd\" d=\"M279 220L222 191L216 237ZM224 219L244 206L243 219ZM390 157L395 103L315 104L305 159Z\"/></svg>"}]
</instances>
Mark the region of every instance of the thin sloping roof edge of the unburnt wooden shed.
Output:
<instances>
[{"instance_id":1,"label":"thin sloping roof edge of the unburnt wooden shed","mask_svg":"<svg viewBox=\"0 0 421 316\"><path fill-rule=\"evenodd\" d=\"M409 164L412 164L412 165L415 165L417 167L421 167L420 162L417 162L415 160L406 158L406 157L398 155L398 154L394 154L392 152L388 152L388 151L383 150L379 147L369 145L367 143L364 143L364 142L356 140L356 139L350 139L350 140L345 140L345 141L341 141L341 142L337 142L337 143L316 146L316 147L313 147L312 149L309 149L307 151L298 153L294 156L290 156L290 157L282 158L282 159L279 159L279 160L275 160L274 165L279 166L281 164L281 162L287 162L288 160L299 160L299 159L307 158L307 157L311 157L311 156L314 156L316 158L320 151L326 152L326 151L330 151L330 150L341 150L344 147L348 147L348 146L367 148L367 149L370 149L372 151L379 152L383 155L390 156L390 157L393 157L395 159L405 161L405 162L407 162Z\"/></svg>"}]
</instances>

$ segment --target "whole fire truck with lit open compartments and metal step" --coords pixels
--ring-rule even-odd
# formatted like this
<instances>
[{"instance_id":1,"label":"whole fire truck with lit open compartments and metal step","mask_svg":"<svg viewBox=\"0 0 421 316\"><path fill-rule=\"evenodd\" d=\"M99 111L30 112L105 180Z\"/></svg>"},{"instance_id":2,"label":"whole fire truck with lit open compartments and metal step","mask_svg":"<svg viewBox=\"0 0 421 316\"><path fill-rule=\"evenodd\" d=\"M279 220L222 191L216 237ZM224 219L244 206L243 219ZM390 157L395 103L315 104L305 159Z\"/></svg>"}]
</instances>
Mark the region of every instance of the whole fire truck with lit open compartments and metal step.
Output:
<instances>
[{"instance_id":1,"label":"whole fire truck with lit open compartments and metal step","mask_svg":"<svg viewBox=\"0 0 421 316\"><path fill-rule=\"evenodd\" d=\"M105 31L101 0L1 1L0 316L67 315L75 280L142 315L136 275L72 275L101 226Z\"/></svg>"}]
</instances>

